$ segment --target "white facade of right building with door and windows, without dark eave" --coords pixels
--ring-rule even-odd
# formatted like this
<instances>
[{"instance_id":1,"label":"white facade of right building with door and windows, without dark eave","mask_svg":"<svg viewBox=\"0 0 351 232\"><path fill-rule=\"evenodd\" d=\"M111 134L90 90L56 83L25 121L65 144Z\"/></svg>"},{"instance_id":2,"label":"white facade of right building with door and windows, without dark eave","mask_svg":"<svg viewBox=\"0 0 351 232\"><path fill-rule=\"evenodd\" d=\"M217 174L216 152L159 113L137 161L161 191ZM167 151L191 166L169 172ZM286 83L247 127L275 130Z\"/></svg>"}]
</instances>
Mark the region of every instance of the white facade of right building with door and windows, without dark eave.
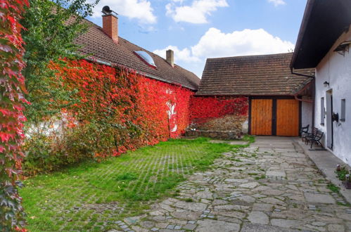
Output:
<instances>
[{"instance_id":1,"label":"white facade of right building with door and windows, without dark eave","mask_svg":"<svg viewBox=\"0 0 351 232\"><path fill-rule=\"evenodd\" d=\"M335 51L344 41L351 41L351 27L317 65L314 125L324 132L324 148L351 165L351 53Z\"/></svg>"}]
</instances>

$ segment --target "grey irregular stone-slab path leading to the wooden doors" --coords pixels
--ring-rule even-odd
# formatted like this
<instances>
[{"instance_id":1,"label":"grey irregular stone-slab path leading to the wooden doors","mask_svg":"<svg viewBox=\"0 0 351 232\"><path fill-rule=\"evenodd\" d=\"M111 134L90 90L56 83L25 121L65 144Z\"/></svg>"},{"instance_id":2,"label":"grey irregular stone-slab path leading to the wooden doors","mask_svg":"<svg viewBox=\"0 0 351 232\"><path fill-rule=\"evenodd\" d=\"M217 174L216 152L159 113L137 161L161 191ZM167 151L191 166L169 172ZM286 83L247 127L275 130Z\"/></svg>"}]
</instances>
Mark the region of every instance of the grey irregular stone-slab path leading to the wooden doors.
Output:
<instances>
[{"instance_id":1,"label":"grey irregular stone-slab path leading to the wooden doors","mask_svg":"<svg viewBox=\"0 0 351 232\"><path fill-rule=\"evenodd\" d=\"M351 231L351 207L291 138L257 137L213 167L120 231Z\"/></svg>"}]
</instances>

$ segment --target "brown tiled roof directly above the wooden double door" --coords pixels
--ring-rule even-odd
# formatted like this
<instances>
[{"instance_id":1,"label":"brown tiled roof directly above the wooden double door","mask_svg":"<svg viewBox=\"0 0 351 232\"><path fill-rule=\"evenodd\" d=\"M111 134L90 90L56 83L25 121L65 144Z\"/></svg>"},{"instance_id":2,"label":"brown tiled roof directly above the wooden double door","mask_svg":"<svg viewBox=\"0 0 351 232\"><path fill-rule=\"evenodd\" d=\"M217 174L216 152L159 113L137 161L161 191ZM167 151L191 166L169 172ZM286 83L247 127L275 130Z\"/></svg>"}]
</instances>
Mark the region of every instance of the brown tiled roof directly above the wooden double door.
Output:
<instances>
[{"instance_id":1,"label":"brown tiled roof directly above the wooden double door","mask_svg":"<svg viewBox=\"0 0 351 232\"><path fill-rule=\"evenodd\" d=\"M293 53L210 58L196 95L290 96L312 78L292 75ZM314 75L314 70L299 70Z\"/></svg>"}]
</instances>

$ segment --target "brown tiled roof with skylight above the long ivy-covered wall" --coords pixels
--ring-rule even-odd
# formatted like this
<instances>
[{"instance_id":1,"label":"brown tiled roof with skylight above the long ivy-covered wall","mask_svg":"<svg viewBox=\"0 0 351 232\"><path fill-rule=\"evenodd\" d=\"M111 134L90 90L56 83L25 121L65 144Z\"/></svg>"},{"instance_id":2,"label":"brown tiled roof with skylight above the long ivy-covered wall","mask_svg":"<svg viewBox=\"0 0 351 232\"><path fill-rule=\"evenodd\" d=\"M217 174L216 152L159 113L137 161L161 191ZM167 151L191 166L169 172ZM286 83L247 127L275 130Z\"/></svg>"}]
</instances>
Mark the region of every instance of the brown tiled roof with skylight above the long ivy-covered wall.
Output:
<instances>
[{"instance_id":1,"label":"brown tiled roof with skylight above the long ivy-covered wall","mask_svg":"<svg viewBox=\"0 0 351 232\"><path fill-rule=\"evenodd\" d=\"M85 22L89 26L88 31L76 39L76 43L82 45L80 51L84 55L105 63L124 65L146 75L146 77L159 79L167 83L181 84L181 86L193 90L198 89L200 79L193 72L189 72L175 64L172 67L164 58L142 49L121 37L119 37L119 42L116 44L103 32L101 27L88 20L85 20ZM155 61L157 68L154 69L146 65L136 56L134 51L146 51Z\"/></svg>"}]
</instances>

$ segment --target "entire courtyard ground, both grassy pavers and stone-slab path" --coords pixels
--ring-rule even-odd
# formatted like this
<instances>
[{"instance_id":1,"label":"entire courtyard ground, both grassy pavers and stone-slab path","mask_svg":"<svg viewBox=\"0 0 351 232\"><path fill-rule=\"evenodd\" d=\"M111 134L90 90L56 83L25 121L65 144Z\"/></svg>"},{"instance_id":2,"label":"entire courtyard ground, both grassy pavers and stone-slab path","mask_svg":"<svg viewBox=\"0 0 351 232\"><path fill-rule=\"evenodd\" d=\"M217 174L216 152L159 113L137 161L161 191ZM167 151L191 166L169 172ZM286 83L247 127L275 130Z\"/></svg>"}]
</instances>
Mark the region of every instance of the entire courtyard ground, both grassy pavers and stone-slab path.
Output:
<instances>
[{"instance_id":1,"label":"entire courtyard ground, both grassy pavers and stone-slab path","mask_svg":"<svg viewBox=\"0 0 351 232\"><path fill-rule=\"evenodd\" d=\"M350 205L292 138L170 141L26 182L30 231L351 231Z\"/></svg>"}]
</instances>

